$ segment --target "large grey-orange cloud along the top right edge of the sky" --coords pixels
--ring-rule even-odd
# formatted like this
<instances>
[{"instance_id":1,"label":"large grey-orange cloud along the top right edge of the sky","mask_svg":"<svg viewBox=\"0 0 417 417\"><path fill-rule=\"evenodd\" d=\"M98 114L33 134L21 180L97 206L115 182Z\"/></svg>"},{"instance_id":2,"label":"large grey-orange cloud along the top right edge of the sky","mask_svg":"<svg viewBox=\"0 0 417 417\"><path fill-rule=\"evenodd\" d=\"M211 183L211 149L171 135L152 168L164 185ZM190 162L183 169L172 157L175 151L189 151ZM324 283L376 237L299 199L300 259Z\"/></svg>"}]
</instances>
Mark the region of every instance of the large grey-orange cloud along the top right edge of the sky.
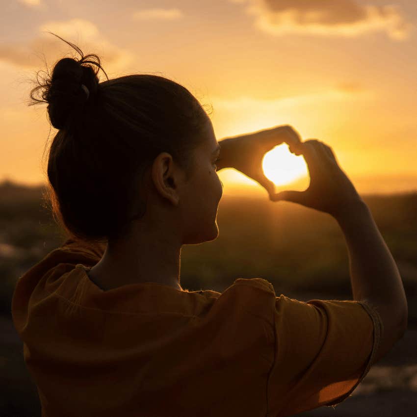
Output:
<instances>
[{"instance_id":1,"label":"large grey-orange cloud along the top right edge of the sky","mask_svg":"<svg viewBox=\"0 0 417 417\"><path fill-rule=\"evenodd\" d=\"M245 5L255 26L272 35L287 33L355 37L386 31L392 39L410 36L408 23L395 5L362 5L355 0L229 0Z\"/></svg>"}]
</instances>

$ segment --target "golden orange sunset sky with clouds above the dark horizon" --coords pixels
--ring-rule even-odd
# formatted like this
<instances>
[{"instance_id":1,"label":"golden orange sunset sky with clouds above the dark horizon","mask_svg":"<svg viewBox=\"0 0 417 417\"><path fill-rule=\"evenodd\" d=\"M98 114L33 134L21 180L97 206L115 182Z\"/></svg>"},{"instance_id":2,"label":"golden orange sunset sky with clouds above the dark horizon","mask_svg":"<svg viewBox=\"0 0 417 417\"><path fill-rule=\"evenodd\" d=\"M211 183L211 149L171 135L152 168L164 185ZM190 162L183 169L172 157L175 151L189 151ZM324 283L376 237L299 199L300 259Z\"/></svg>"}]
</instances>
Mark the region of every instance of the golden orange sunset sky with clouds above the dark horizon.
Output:
<instances>
[{"instance_id":1,"label":"golden orange sunset sky with clouds above the dark horizon","mask_svg":"<svg viewBox=\"0 0 417 417\"><path fill-rule=\"evenodd\" d=\"M290 124L329 144L359 192L417 191L417 1L3 0L1 9L0 181L45 181L56 130L46 105L27 106L30 80L43 54L49 66L76 56L49 30L99 54L109 78L181 83L212 106L219 141ZM305 182L292 189L307 188L302 156L276 152L289 166L297 158ZM275 178L287 178L284 165ZM224 193L267 195L234 169L219 176Z\"/></svg>"}]
</instances>

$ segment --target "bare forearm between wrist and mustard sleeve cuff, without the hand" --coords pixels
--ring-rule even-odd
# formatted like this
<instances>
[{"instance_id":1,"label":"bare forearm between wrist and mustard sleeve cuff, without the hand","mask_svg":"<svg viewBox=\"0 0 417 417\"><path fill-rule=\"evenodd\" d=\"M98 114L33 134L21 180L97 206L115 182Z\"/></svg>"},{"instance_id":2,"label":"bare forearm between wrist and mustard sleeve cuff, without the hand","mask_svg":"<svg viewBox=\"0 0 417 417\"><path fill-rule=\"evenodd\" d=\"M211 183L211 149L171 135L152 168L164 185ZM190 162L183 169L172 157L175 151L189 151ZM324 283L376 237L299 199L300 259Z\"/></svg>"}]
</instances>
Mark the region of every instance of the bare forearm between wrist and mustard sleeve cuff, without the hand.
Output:
<instances>
[{"instance_id":1,"label":"bare forearm between wrist and mustard sleeve cuff, without the hand","mask_svg":"<svg viewBox=\"0 0 417 417\"><path fill-rule=\"evenodd\" d=\"M353 298L375 307L384 325L377 362L407 329L408 305L401 276L369 208L362 200L347 206L336 220L349 250Z\"/></svg>"}]
</instances>

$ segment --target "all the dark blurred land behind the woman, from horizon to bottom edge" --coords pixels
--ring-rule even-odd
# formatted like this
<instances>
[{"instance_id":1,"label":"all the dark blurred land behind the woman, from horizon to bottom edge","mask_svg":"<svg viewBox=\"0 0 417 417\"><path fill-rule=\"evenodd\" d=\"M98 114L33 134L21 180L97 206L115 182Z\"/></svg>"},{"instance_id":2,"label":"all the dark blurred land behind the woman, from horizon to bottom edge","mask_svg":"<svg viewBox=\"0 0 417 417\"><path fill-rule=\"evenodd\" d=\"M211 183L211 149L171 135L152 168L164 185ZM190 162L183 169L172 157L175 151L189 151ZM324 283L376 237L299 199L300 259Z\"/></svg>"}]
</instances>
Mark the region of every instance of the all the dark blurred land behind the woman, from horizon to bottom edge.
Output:
<instances>
[{"instance_id":1,"label":"all the dark blurred land behind the woman, from horizon to bottom edge","mask_svg":"<svg viewBox=\"0 0 417 417\"><path fill-rule=\"evenodd\" d=\"M18 278L66 236L42 200L42 187L0 184L0 416L40 416L36 387L11 322ZM409 328L363 383L336 409L298 416L417 415L417 192L364 195L403 279ZM349 257L335 219L326 213L266 196L224 195L219 236L182 248L181 285L224 291L236 278L261 277L276 295L302 301L351 300Z\"/></svg>"}]
</instances>

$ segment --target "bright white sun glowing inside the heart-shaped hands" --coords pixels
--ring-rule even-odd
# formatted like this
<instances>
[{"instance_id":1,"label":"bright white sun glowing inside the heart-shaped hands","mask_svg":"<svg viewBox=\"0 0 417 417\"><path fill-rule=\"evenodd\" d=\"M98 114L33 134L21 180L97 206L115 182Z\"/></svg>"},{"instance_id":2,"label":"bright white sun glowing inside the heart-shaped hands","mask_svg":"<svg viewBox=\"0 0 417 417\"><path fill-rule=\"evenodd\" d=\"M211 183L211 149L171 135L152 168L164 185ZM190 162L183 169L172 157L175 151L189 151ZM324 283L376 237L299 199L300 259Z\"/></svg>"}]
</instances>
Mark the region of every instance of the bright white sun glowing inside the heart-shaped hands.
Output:
<instances>
[{"instance_id":1,"label":"bright white sun glowing inside the heart-shaped hands","mask_svg":"<svg viewBox=\"0 0 417 417\"><path fill-rule=\"evenodd\" d=\"M262 169L266 178L276 185L296 182L308 175L303 156L291 154L286 143L276 146L265 154Z\"/></svg>"}]
</instances>

